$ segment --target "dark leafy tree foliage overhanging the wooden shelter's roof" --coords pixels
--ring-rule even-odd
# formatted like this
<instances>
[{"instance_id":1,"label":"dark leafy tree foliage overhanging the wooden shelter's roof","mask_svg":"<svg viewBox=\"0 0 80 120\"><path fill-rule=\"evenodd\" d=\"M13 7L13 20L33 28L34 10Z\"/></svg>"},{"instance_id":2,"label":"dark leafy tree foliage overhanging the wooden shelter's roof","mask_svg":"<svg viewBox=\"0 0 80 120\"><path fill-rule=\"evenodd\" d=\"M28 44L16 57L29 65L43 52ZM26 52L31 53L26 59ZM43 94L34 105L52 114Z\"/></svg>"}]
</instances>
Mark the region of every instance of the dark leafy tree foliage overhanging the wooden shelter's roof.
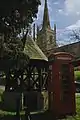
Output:
<instances>
[{"instance_id":1,"label":"dark leafy tree foliage overhanging the wooden shelter's roof","mask_svg":"<svg viewBox=\"0 0 80 120\"><path fill-rule=\"evenodd\" d=\"M0 58L22 59L26 35L37 17L40 0L0 0ZM24 34L24 30L26 33ZM23 39L18 35L23 32Z\"/></svg>"}]
</instances>

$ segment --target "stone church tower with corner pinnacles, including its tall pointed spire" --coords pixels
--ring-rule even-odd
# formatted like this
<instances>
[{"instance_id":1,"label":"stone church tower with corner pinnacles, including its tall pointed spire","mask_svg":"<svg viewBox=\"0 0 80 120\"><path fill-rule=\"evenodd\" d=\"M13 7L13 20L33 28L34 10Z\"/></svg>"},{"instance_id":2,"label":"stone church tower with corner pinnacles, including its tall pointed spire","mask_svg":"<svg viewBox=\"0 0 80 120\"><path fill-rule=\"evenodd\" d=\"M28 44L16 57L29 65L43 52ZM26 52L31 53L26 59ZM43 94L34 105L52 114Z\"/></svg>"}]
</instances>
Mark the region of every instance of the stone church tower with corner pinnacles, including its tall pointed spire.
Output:
<instances>
[{"instance_id":1,"label":"stone church tower with corner pinnacles, including its tall pointed spire","mask_svg":"<svg viewBox=\"0 0 80 120\"><path fill-rule=\"evenodd\" d=\"M42 29L39 30L39 27L37 26L36 42L45 54L56 47L56 25L54 24L54 30L52 30L50 26L47 0L45 0Z\"/></svg>"}]
</instances>

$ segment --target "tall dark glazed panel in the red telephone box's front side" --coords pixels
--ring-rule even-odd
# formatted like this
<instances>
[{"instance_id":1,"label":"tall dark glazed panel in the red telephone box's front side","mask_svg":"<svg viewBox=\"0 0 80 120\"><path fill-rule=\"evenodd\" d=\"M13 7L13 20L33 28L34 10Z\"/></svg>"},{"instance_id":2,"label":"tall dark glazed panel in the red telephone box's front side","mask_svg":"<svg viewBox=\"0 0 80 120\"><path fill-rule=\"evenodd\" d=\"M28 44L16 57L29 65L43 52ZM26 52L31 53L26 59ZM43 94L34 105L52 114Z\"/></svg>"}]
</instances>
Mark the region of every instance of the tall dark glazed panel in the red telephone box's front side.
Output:
<instances>
[{"instance_id":1,"label":"tall dark glazed panel in the red telephone box's front side","mask_svg":"<svg viewBox=\"0 0 80 120\"><path fill-rule=\"evenodd\" d=\"M70 92L70 68L68 64L61 65L61 99L67 102Z\"/></svg>"}]
</instances>

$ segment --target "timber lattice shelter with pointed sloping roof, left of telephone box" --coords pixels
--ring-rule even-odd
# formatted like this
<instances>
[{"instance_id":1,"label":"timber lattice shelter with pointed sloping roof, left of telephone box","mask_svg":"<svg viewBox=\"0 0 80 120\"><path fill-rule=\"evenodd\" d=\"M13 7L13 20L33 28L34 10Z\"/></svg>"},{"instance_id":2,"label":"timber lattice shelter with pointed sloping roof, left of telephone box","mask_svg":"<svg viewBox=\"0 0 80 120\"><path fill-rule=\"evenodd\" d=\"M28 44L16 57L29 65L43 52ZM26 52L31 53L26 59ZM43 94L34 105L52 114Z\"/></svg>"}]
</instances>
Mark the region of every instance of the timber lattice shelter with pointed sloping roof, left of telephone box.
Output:
<instances>
[{"instance_id":1,"label":"timber lattice shelter with pointed sloping roof, left of telephone box","mask_svg":"<svg viewBox=\"0 0 80 120\"><path fill-rule=\"evenodd\" d=\"M22 97L23 93L24 100L21 101L21 104L26 105L26 101L27 105L34 102L33 104L36 103L36 105L31 105L31 110L42 109L44 107L42 105L44 104L42 92L47 89L48 59L31 37L27 38L23 52L30 58L28 65L24 69L23 67L18 70L10 68L5 73L6 85L3 94L5 107L7 105L7 107L15 110L16 100ZM12 104L10 104L8 98L10 98L10 101L13 101ZM25 98L29 98L29 100Z\"/></svg>"}]
</instances>

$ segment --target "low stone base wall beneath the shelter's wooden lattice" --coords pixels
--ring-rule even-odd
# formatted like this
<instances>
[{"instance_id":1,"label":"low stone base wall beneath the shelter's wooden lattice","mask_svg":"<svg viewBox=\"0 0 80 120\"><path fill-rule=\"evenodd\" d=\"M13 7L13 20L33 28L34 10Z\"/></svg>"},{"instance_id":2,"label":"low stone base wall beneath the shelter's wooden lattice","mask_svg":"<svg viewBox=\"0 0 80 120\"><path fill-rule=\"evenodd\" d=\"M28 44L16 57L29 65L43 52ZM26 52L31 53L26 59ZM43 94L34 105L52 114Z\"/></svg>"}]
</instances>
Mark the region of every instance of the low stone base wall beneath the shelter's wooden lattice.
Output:
<instances>
[{"instance_id":1,"label":"low stone base wall beneath the shelter's wooden lattice","mask_svg":"<svg viewBox=\"0 0 80 120\"><path fill-rule=\"evenodd\" d=\"M23 95L23 96L22 96ZM20 100L20 110L25 106L33 111L48 109L48 91L43 92L3 92L3 109L7 111L16 111L17 100Z\"/></svg>"}]
</instances>

